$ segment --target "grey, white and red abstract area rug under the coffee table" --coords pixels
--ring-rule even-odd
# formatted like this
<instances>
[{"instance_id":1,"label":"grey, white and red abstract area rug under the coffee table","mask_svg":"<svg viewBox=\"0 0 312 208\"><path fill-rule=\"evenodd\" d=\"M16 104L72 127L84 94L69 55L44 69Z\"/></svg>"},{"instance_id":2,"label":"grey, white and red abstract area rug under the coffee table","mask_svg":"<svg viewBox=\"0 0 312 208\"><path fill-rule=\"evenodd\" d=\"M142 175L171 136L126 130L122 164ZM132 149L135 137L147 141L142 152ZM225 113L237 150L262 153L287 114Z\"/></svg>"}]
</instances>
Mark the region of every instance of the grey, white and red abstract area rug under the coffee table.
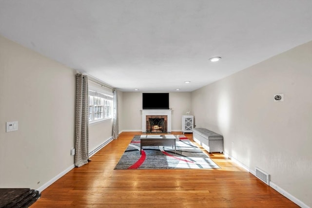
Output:
<instances>
[{"instance_id":1,"label":"grey, white and red abstract area rug under the coffee table","mask_svg":"<svg viewBox=\"0 0 312 208\"><path fill-rule=\"evenodd\" d=\"M140 154L140 135L136 135L117 163L116 169L218 169L203 151L184 135L176 138L172 146L143 146Z\"/></svg>"}]
</instances>

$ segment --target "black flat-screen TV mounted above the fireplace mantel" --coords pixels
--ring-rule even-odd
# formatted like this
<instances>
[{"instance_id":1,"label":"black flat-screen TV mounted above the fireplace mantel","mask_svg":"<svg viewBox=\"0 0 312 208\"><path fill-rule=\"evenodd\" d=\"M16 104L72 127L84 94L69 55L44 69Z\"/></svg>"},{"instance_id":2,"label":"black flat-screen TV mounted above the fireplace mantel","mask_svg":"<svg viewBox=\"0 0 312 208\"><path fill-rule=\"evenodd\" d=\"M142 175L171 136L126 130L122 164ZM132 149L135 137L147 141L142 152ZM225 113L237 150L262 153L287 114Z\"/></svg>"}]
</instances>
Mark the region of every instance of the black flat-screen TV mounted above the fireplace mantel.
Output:
<instances>
[{"instance_id":1,"label":"black flat-screen TV mounted above the fireplace mantel","mask_svg":"<svg viewBox=\"0 0 312 208\"><path fill-rule=\"evenodd\" d=\"M169 93L143 93L143 109L169 109Z\"/></svg>"}]
</instances>

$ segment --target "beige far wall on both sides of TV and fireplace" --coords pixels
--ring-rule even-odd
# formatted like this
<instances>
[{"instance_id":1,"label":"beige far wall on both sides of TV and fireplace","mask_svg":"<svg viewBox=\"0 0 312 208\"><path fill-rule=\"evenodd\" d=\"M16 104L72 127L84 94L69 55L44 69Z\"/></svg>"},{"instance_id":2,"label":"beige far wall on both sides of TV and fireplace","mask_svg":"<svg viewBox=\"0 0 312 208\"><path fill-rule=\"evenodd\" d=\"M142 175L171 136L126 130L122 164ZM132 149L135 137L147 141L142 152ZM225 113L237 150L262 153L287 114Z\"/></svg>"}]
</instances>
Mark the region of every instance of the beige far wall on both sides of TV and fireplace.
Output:
<instances>
[{"instance_id":1,"label":"beige far wall on both sides of TV and fireplace","mask_svg":"<svg viewBox=\"0 0 312 208\"><path fill-rule=\"evenodd\" d=\"M142 93L123 92L122 99L122 130L142 131ZM169 93L169 105L173 109L171 129L181 131L182 115L191 109L191 93Z\"/></svg>"}]
</instances>

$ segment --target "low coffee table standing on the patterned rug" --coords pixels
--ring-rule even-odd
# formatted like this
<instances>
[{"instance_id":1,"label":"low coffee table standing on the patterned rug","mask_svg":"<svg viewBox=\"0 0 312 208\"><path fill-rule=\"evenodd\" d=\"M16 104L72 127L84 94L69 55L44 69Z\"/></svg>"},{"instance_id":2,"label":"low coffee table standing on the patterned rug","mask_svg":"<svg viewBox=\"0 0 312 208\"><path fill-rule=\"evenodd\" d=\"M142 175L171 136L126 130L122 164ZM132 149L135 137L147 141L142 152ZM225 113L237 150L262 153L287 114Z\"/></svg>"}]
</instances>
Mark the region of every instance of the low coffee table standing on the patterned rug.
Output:
<instances>
[{"instance_id":1,"label":"low coffee table standing on the patterned rug","mask_svg":"<svg viewBox=\"0 0 312 208\"><path fill-rule=\"evenodd\" d=\"M176 152L176 137L172 134L166 135L141 135L140 136L140 154L142 154L143 146L175 146Z\"/></svg>"}]
</instances>

